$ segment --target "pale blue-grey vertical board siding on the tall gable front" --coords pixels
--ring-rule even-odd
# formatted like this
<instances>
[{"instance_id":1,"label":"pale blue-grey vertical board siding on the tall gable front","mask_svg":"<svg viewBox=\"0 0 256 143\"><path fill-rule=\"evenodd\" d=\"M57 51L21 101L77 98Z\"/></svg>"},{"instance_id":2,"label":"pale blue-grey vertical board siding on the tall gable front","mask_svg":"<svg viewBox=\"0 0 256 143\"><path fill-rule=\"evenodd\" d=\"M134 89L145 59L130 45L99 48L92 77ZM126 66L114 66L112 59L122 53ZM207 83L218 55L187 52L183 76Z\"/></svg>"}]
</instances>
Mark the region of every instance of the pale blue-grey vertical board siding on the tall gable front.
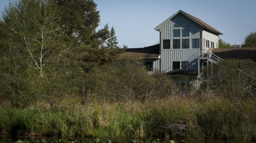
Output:
<instances>
[{"instance_id":1,"label":"pale blue-grey vertical board siding on the tall gable front","mask_svg":"<svg viewBox=\"0 0 256 143\"><path fill-rule=\"evenodd\" d=\"M189 27L174 27L173 25L180 21L180 24L182 26L182 21L185 21ZM173 37L172 37L172 30L173 29L189 29L189 37L174 37L175 39L189 39L189 49L173 49ZM189 70L197 70L197 57L199 56L199 50L200 48L194 49L192 48L192 39L197 38L200 39L201 31L203 30L203 27L199 24L197 24L195 21L191 20L187 16L179 13L176 16L174 16L172 19L167 20L165 23L163 23L160 27L161 31L161 41L163 39L170 39L170 49L163 49L163 44L161 44L161 71L162 72L170 72L172 71L172 62L173 61L189 61ZM180 34L182 34L182 30L180 30ZM217 36L218 37L218 36ZM208 39L207 39L208 40ZM181 40L182 43L182 40ZM215 41L214 41L214 44ZM182 44L180 44L182 46ZM201 46L201 39L199 40L199 47ZM214 45L214 47L216 47ZM159 60L160 62L160 60ZM160 63L159 63L160 64ZM181 65L180 65L181 66ZM159 65L160 67L160 65Z\"/></svg>"}]
</instances>

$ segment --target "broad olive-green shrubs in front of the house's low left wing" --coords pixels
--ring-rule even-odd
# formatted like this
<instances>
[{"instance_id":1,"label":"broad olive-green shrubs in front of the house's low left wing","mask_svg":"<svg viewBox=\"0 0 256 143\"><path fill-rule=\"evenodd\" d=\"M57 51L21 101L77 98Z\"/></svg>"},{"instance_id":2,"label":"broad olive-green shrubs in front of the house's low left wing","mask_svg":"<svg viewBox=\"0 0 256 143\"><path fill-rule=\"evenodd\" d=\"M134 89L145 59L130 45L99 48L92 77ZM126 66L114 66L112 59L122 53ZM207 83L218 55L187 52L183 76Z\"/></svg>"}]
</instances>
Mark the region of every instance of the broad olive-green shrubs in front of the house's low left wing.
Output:
<instances>
[{"instance_id":1,"label":"broad olive-green shrubs in front of the house's low left wing","mask_svg":"<svg viewBox=\"0 0 256 143\"><path fill-rule=\"evenodd\" d=\"M167 75L149 76L137 59L113 61L89 73L88 91L93 99L111 101L148 101L157 96L171 95L173 83ZM89 99L90 99L89 98Z\"/></svg>"}]
</instances>

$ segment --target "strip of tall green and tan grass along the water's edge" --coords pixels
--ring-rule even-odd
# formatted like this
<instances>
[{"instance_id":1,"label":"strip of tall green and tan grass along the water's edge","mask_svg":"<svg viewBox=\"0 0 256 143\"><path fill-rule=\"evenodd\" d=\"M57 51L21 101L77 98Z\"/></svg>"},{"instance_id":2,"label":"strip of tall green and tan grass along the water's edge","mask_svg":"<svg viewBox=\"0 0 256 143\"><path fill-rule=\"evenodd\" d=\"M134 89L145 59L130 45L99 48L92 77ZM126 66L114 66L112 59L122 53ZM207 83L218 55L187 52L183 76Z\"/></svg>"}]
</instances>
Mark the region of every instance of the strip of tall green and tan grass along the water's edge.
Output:
<instances>
[{"instance_id":1,"label":"strip of tall green and tan grass along the water's edge","mask_svg":"<svg viewBox=\"0 0 256 143\"><path fill-rule=\"evenodd\" d=\"M1 105L0 130L8 134L88 137L146 137L256 140L255 99L165 98L142 102L80 104L63 99L54 106Z\"/></svg>"}]
</instances>

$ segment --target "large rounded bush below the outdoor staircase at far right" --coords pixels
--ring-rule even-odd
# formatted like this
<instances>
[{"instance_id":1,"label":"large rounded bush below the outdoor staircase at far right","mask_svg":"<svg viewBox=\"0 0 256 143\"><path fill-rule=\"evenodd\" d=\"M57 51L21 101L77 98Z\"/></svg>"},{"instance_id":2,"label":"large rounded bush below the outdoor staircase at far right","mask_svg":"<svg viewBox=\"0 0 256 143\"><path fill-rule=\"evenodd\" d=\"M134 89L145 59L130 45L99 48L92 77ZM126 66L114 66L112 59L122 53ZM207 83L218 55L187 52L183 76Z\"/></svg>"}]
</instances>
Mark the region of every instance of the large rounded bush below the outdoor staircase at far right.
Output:
<instances>
[{"instance_id":1,"label":"large rounded bush below the outdoor staircase at far right","mask_svg":"<svg viewBox=\"0 0 256 143\"><path fill-rule=\"evenodd\" d=\"M226 59L218 65L204 68L203 90L229 100L244 98L255 87L256 64L252 60Z\"/></svg>"}]
</instances>

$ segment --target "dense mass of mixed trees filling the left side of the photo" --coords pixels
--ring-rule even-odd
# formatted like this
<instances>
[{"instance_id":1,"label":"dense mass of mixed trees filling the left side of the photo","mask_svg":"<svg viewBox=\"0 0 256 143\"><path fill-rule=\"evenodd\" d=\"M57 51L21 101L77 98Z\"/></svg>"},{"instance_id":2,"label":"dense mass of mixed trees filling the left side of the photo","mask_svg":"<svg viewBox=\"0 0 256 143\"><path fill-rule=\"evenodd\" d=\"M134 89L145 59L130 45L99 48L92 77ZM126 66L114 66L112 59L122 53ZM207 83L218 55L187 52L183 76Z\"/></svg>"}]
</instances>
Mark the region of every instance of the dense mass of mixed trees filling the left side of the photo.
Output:
<instances>
[{"instance_id":1,"label":"dense mass of mixed trees filling the left side of the photo","mask_svg":"<svg viewBox=\"0 0 256 143\"><path fill-rule=\"evenodd\" d=\"M0 98L22 105L57 89L70 95L117 59L127 46L108 24L96 31L99 18L93 0L10 1L0 20Z\"/></svg>"}]
</instances>

